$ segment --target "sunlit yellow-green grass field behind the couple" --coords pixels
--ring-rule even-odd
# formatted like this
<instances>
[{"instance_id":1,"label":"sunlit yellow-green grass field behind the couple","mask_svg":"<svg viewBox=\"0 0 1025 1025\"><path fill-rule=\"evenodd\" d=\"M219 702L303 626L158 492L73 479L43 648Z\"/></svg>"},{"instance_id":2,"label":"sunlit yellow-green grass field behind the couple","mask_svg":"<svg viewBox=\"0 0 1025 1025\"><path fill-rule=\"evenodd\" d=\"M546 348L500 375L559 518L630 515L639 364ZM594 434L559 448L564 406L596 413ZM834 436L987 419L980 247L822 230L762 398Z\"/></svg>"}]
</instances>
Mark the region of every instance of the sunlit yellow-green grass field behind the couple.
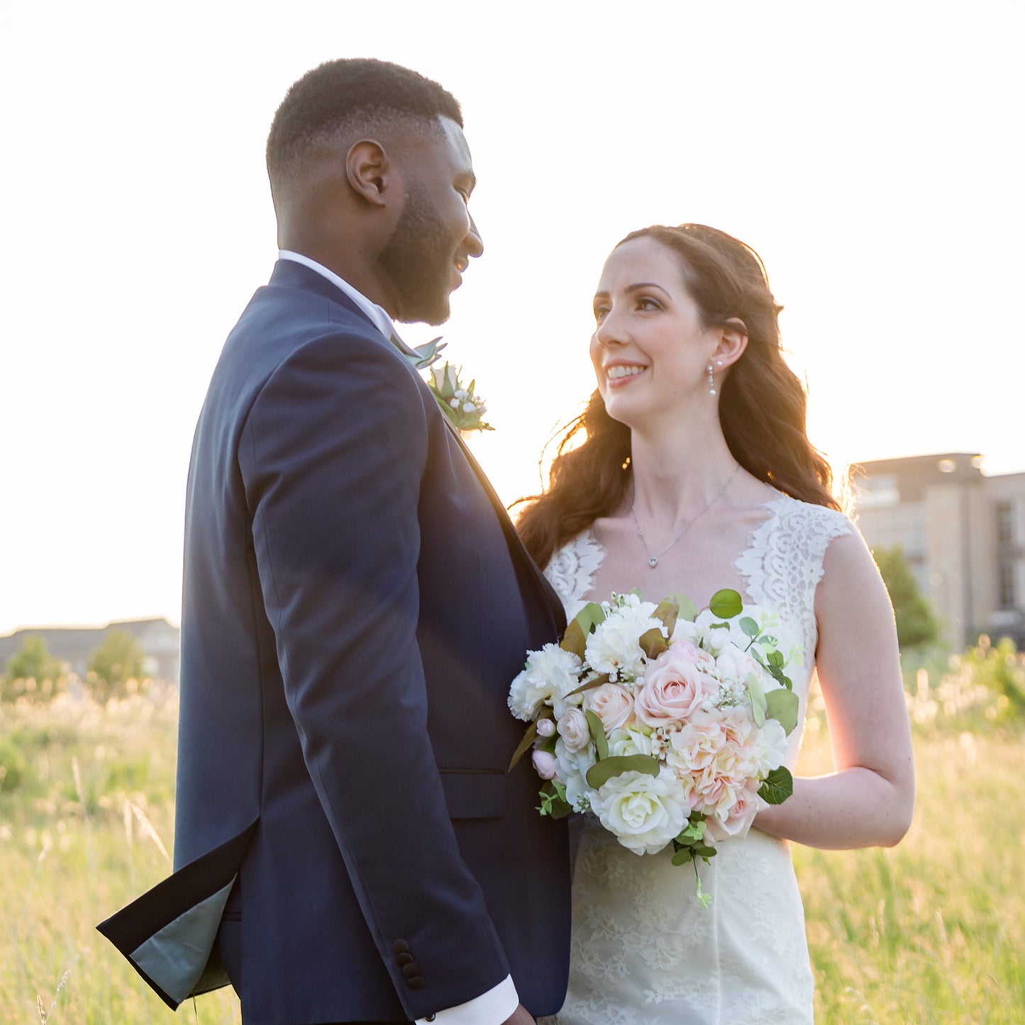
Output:
<instances>
[{"instance_id":1,"label":"sunlit yellow-green grass field behind the couple","mask_svg":"<svg viewBox=\"0 0 1025 1025\"><path fill-rule=\"evenodd\" d=\"M904 843L794 849L818 1021L1025 1023L1023 735L978 688L918 697ZM175 715L168 693L0 704L5 1025L240 1022L223 990L171 1015L93 929L169 869ZM828 768L815 714L802 771Z\"/></svg>"}]
</instances>

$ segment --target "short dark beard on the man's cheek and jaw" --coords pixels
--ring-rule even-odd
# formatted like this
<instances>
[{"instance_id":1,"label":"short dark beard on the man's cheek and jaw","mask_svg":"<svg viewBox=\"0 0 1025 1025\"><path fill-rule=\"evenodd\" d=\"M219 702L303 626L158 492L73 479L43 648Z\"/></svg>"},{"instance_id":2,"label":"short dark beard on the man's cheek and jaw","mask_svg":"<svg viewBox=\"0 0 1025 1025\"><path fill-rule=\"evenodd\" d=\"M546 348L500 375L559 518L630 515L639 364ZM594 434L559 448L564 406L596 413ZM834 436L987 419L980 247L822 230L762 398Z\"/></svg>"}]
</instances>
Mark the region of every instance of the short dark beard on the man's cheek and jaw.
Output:
<instances>
[{"instance_id":1,"label":"short dark beard on the man's cheek and jaw","mask_svg":"<svg viewBox=\"0 0 1025 1025\"><path fill-rule=\"evenodd\" d=\"M396 320L426 324L448 320L454 255L450 233L423 194L410 190L379 257L399 298Z\"/></svg>"}]
</instances>

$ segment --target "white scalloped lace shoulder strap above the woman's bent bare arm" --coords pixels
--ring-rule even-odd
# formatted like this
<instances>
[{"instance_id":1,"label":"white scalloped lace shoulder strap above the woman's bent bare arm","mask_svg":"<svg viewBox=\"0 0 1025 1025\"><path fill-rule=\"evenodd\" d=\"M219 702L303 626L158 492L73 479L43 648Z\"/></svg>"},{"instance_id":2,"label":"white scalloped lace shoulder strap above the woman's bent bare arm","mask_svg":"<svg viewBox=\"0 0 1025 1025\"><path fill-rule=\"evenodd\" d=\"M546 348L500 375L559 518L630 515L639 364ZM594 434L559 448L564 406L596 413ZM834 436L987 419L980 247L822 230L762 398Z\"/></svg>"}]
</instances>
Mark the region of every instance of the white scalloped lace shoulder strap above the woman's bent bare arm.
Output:
<instances>
[{"instance_id":1,"label":"white scalloped lace shoulder strap above the woman's bent bare arm","mask_svg":"<svg viewBox=\"0 0 1025 1025\"><path fill-rule=\"evenodd\" d=\"M789 495L774 498L765 507L770 515L751 535L737 569L747 580L751 601L799 628L811 656L819 633L815 589L822 579L826 548L833 538L854 533L855 527L836 509Z\"/></svg>"}]
</instances>

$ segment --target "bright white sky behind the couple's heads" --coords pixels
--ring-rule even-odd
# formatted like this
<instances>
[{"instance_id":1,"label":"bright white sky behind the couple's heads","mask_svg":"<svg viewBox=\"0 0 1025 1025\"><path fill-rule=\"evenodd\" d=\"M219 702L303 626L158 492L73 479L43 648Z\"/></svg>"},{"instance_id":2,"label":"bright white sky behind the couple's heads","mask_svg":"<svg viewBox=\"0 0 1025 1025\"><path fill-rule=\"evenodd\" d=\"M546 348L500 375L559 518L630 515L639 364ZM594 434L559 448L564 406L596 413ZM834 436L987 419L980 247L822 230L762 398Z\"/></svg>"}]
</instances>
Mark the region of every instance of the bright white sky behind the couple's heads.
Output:
<instances>
[{"instance_id":1,"label":"bright white sky behind the couple's heads","mask_svg":"<svg viewBox=\"0 0 1025 1025\"><path fill-rule=\"evenodd\" d=\"M462 102L484 239L440 329L507 501L593 388L601 264L699 221L760 253L834 462L1025 470L1019 4L0 4L0 634L166 616L206 384L276 255L263 152L325 59Z\"/></svg>"}]
</instances>

